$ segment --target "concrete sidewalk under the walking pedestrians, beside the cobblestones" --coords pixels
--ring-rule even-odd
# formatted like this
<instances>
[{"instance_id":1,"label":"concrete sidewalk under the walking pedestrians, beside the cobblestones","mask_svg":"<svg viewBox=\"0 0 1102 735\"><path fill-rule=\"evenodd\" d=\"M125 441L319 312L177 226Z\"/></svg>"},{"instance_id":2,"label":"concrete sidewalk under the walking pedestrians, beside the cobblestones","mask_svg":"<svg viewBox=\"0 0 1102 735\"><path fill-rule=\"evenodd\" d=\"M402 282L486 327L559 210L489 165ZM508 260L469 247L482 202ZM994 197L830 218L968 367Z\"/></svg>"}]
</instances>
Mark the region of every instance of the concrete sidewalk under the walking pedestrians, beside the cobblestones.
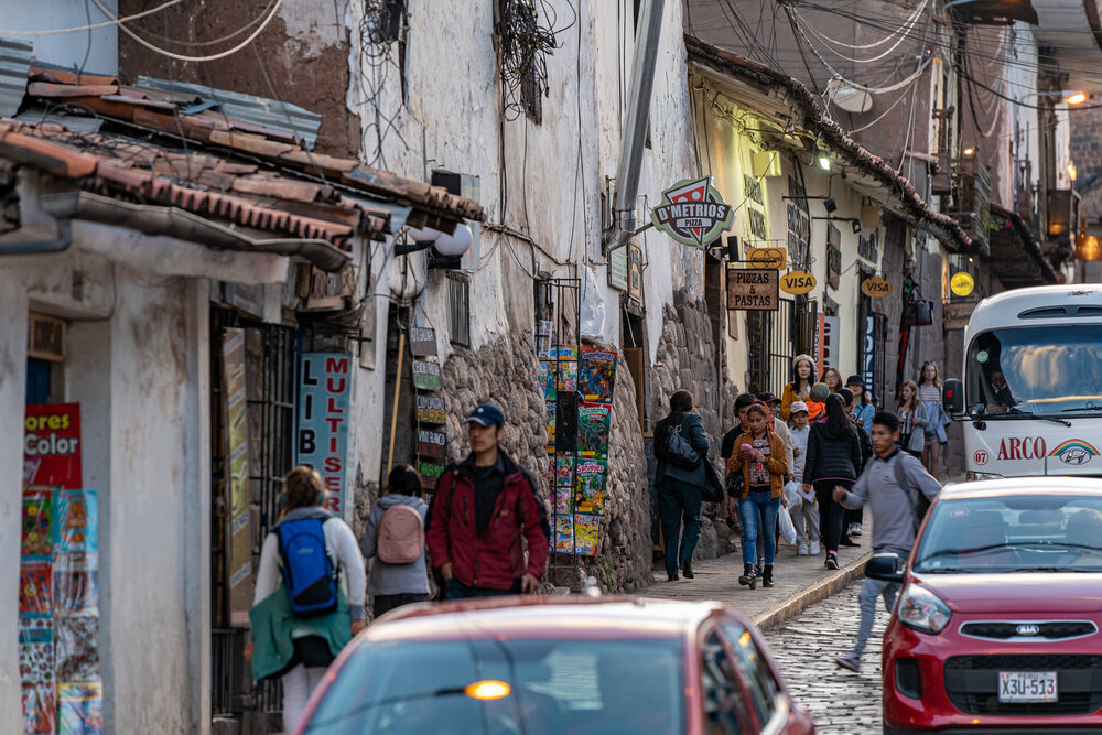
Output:
<instances>
[{"instance_id":1,"label":"concrete sidewalk under the walking pedestrians, beside the cobblestones","mask_svg":"<svg viewBox=\"0 0 1102 735\"><path fill-rule=\"evenodd\" d=\"M872 514L865 514L864 533L853 539L861 547L839 549L838 571L823 566L827 561L825 551L819 556L797 556L796 547L781 541L774 563L775 586L769 590L761 586L760 580L756 590L739 586L743 558L736 552L693 563L693 580L681 577L677 582L668 582L666 571L656 570L655 583L647 591L647 596L716 599L731 603L759 628L778 626L802 613L808 605L825 599L855 580L863 579L865 562L872 555L868 547L873 530L868 522L869 516Z\"/></svg>"}]
</instances>

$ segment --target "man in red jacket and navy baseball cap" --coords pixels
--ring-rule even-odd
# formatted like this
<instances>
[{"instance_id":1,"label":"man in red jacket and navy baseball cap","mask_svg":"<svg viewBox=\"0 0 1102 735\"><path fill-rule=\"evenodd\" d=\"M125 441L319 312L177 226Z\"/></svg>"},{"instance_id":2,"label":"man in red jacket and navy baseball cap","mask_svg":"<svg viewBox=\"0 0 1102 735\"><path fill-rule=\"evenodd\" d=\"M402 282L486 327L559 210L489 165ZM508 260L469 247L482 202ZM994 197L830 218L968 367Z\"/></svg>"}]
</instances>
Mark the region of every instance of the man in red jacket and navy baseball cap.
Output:
<instances>
[{"instance_id":1,"label":"man in red jacket and navy baseball cap","mask_svg":"<svg viewBox=\"0 0 1102 735\"><path fill-rule=\"evenodd\" d=\"M471 454L441 475L429 510L429 553L444 577L444 598L534 592L551 534L543 500L531 476L498 447L501 409L476 408L467 435Z\"/></svg>"}]
</instances>

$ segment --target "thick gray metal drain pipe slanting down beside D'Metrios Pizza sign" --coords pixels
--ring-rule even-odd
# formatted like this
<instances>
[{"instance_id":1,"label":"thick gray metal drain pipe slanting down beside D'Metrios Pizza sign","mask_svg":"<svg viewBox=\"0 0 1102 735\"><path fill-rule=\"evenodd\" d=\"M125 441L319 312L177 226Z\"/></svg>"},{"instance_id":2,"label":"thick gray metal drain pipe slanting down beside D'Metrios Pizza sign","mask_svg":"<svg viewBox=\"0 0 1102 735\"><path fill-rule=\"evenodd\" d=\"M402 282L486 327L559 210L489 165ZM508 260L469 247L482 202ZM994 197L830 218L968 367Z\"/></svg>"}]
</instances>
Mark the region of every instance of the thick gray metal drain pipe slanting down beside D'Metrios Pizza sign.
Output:
<instances>
[{"instance_id":1,"label":"thick gray metal drain pipe slanting down beside D'Metrios Pizza sign","mask_svg":"<svg viewBox=\"0 0 1102 735\"><path fill-rule=\"evenodd\" d=\"M631 90L628 98L627 123L620 144L619 167L616 170L616 198L613 202L613 228L605 237L606 250L627 245L635 235L635 207L639 196L639 170L642 149L647 143L650 122L650 96L655 87L658 43L662 34L662 11L666 0L642 0L639 35L635 41L631 62Z\"/></svg>"}]
</instances>

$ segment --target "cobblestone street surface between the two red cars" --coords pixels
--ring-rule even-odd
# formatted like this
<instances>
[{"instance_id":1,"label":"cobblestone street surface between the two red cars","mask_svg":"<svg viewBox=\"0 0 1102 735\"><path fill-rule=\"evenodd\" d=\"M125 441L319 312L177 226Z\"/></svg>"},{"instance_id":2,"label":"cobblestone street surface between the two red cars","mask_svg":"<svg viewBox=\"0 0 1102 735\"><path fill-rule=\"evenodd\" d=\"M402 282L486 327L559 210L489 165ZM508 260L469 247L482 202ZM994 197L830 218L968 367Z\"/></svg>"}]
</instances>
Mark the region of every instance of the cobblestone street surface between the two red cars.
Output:
<instances>
[{"instance_id":1,"label":"cobblestone street surface between the two red cars","mask_svg":"<svg viewBox=\"0 0 1102 735\"><path fill-rule=\"evenodd\" d=\"M860 613L861 581L808 607L802 615L766 631L792 696L815 721L819 735L880 732L880 642L888 614L876 610L876 626L862 659L861 673L831 660L853 645Z\"/></svg>"}]
</instances>

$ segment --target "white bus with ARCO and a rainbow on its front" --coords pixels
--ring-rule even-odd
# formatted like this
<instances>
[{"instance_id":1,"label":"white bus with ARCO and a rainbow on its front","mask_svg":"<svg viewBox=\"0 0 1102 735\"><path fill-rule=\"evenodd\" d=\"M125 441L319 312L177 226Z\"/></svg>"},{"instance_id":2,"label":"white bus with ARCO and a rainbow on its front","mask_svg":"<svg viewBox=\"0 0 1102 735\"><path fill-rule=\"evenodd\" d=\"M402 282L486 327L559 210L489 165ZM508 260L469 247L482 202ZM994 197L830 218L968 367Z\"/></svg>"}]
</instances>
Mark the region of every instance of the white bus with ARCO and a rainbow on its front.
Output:
<instances>
[{"instance_id":1,"label":"white bus with ARCO and a rainbow on its front","mask_svg":"<svg viewBox=\"0 0 1102 735\"><path fill-rule=\"evenodd\" d=\"M1102 477L1102 284L984 299L964 345L944 408L964 424L969 479Z\"/></svg>"}]
</instances>

